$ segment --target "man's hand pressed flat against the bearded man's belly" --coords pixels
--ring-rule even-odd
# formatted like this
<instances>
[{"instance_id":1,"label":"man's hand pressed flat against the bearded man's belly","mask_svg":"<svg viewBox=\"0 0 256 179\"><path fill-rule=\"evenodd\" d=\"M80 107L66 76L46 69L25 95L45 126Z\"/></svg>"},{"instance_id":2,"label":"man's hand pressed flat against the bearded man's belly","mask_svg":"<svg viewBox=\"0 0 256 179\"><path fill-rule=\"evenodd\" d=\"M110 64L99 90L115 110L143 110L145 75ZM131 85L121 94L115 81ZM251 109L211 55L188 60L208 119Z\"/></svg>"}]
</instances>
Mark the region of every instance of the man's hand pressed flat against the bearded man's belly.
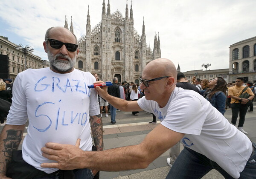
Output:
<instances>
[{"instance_id":1,"label":"man's hand pressed flat against the bearded man's belly","mask_svg":"<svg viewBox=\"0 0 256 179\"><path fill-rule=\"evenodd\" d=\"M80 139L77 139L76 145L56 144L49 142L42 147L42 156L58 163L42 163L41 167L59 168L61 170L73 170L80 167L83 150L79 148ZM93 173L94 174L94 173Z\"/></svg>"}]
</instances>

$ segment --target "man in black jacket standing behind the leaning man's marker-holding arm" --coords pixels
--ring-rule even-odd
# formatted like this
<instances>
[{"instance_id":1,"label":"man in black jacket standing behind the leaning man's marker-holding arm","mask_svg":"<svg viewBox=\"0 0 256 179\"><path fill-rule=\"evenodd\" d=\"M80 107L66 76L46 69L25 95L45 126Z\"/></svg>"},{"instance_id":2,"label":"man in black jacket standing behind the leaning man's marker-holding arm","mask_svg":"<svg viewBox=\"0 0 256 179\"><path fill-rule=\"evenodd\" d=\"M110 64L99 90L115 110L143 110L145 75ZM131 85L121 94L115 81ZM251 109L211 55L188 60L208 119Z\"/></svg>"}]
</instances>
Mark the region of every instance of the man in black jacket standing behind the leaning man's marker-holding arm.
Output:
<instances>
[{"instance_id":1,"label":"man in black jacket standing behind the leaning man's marker-holding arm","mask_svg":"<svg viewBox=\"0 0 256 179\"><path fill-rule=\"evenodd\" d=\"M117 84L118 79L116 77L113 78L113 85L108 87L108 94L111 96L115 96L120 98L120 90ZM116 124L116 108L109 104L110 114L111 114L111 123Z\"/></svg>"}]
</instances>

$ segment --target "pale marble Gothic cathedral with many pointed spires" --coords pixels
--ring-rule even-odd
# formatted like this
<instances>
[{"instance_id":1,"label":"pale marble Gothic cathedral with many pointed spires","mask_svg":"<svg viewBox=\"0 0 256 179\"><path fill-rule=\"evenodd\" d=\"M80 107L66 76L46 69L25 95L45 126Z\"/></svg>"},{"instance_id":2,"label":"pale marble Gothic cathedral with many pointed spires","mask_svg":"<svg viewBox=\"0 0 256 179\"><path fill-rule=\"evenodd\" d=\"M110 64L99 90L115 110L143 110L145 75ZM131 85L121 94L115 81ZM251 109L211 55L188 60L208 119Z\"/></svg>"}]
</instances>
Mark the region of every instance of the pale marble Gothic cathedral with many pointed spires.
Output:
<instances>
[{"instance_id":1,"label":"pale marble Gothic cathedral with many pointed spires","mask_svg":"<svg viewBox=\"0 0 256 179\"><path fill-rule=\"evenodd\" d=\"M67 18L65 28L68 29ZM73 32L71 19L70 31ZM142 35L134 29L132 5L130 17L126 3L125 17L116 10L111 13L108 0L107 12L105 0L102 4L102 20L95 27L90 26L88 7L86 34L79 40L79 55L76 67L82 71L95 72L102 81L111 81L117 77L119 82L135 81L145 66L152 60L161 57L160 39L155 34L153 51L146 44L143 19Z\"/></svg>"}]
</instances>

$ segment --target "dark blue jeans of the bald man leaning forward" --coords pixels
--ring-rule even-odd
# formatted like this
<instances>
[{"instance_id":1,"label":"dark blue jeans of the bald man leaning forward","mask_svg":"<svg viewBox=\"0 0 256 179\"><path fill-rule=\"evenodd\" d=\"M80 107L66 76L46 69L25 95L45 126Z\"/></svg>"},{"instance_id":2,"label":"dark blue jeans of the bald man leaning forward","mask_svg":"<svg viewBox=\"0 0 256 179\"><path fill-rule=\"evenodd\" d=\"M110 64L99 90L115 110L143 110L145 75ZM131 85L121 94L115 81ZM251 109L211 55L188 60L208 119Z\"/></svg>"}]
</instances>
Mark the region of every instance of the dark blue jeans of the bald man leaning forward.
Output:
<instances>
[{"instance_id":1,"label":"dark blue jeans of the bald man leaning forward","mask_svg":"<svg viewBox=\"0 0 256 179\"><path fill-rule=\"evenodd\" d=\"M254 153L250 156L244 170L240 173L239 179L256 178L256 145L254 143L253 147ZM225 179L233 179L216 162L211 161L206 156L194 150L184 147L172 165L166 179L200 179L212 169L218 170Z\"/></svg>"}]
</instances>

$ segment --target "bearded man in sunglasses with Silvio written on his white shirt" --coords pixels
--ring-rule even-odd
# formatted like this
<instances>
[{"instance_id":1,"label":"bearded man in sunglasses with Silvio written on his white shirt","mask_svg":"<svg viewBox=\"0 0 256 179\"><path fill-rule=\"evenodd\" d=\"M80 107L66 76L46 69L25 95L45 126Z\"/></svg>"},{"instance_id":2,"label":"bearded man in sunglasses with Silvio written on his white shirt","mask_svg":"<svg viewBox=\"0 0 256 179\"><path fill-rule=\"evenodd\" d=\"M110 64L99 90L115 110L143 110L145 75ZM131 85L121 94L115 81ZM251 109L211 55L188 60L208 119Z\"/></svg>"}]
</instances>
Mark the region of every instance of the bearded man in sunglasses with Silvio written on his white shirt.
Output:
<instances>
[{"instance_id":1,"label":"bearded man in sunglasses with Silvio written on his white shirt","mask_svg":"<svg viewBox=\"0 0 256 179\"><path fill-rule=\"evenodd\" d=\"M0 179L93 178L97 170L63 171L40 166L52 162L41 155L41 147L49 141L74 145L81 138L81 150L91 151L92 131L94 150L103 150L97 92L87 87L96 79L90 72L74 68L79 52L76 36L63 27L52 27L43 45L50 67L26 69L13 85L12 107L0 136ZM22 151L16 151L27 118Z\"/></svg>"}]
</instances>

